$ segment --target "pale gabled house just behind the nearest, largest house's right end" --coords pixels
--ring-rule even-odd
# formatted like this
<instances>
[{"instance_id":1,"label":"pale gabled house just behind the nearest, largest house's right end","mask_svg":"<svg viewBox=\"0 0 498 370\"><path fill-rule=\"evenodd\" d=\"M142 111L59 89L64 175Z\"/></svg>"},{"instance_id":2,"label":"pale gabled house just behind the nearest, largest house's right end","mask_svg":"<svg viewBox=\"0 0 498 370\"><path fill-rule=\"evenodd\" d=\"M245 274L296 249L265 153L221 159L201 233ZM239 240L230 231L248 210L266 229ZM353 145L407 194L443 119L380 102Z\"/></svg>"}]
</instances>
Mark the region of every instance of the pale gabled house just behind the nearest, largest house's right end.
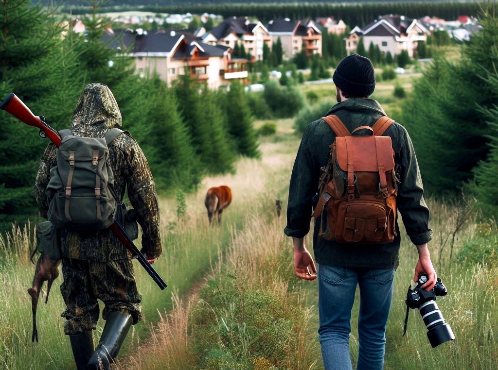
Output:
<instances>
[{"instance_id":1,"label":"pale gabled house just behind the nearest, largest house's right end","mask_svg":"<svg viewBox=\"0 0 498 370\"><path fill-rule=\"evenodd\" d=\"M261 22L251 22L248 17L227 18L203 35L202 41L210 45L224 45L231 49L236 44L244 46L253 61L263 60L263 45L271 50L271 37Z\"/></svg>"}]
</instances>

